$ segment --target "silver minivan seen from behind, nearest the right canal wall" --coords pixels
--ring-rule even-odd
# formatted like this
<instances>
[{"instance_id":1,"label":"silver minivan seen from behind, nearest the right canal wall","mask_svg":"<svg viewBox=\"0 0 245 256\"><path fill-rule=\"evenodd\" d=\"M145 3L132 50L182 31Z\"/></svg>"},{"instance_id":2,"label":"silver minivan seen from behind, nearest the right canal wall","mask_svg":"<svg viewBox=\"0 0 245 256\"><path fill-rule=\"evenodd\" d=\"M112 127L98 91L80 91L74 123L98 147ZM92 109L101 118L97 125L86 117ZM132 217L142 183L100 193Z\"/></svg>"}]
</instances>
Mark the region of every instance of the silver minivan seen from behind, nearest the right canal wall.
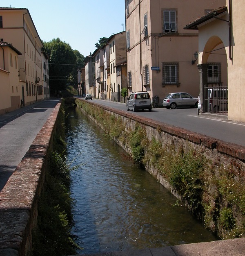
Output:
<instances>
[{"instance_id":1,"label":"silver minivan seen from behind, nearest the right canal wall","mask_svg":"<svg viewBox=\"0 0 245 256\"><path fill-rule=\"evenodd\" d=\"M127 111L133 110L134 112L138 109L148 109L151 111L151 97L147 92L135 92L131 93L127 98Z\"/></svg>"}]
</instances>

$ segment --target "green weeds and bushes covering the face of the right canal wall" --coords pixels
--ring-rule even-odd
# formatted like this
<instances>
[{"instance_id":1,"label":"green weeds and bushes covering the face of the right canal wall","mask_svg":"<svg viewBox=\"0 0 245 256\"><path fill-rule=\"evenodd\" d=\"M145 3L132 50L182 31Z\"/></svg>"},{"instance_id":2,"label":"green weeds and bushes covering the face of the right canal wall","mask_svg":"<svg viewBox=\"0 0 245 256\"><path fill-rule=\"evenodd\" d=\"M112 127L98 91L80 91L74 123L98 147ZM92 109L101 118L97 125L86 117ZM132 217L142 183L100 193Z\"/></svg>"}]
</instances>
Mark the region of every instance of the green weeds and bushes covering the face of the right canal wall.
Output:
<instances>
[{"instance_id":1,"label":"green weeds and bushes covering the face of the right canal wall","mask_svg":"<svg viewBox=\"0 0 245 256\"><path fill-rule=\"evenodd\" d=\"M224 167L221 162L212 162L201 147L149 138L143 124L136 122L130 128L129 123L125 129L122 119L114 113L80 100L76 103L109 138L119 140L127 148L135 163L162 175L180 196L181 203L176 206L185 204L220 238L245 237L244 174L238 163ZM160 127L156 131L158 136L162 134Z\"/></svg>"}]
</instances>

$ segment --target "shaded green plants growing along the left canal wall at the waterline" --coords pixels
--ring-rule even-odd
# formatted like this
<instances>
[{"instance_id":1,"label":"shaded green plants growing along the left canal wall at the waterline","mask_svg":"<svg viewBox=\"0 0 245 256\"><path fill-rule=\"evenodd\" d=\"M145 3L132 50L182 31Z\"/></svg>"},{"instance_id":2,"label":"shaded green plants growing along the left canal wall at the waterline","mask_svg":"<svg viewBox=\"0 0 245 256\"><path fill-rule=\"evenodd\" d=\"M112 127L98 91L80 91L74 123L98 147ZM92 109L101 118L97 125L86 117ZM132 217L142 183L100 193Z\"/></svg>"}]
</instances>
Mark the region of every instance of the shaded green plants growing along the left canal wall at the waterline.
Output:
<instances>
[{"instance_id":1,"label":"shaded green plants growing along the left canal wall at the waterline","mask_svg":"<svg viewBox=\"0 0 245 256\"><path fill-rule=\"evenodd\" d=\"M62 105L45 170L45 187L38 201L38 227L33 231L33 256L76 254L71 237L73 199L70 193L71 163L65 154L65 111Z\"/></svg>"}]
</instances>

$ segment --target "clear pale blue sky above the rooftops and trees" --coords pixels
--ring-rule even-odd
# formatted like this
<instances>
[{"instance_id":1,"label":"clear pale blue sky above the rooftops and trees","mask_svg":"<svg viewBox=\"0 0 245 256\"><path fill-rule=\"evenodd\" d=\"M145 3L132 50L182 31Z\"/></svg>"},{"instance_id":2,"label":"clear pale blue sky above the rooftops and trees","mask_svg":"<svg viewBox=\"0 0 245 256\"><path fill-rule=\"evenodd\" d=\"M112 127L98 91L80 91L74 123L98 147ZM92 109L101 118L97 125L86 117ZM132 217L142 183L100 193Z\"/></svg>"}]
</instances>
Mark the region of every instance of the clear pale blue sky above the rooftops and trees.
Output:
<instances>
[{"instance_id":1,"label":"clear pale blue sky above the rooftops and trees","mask_svg":"<svg viewBox=\"0 0 245 256\"><path fill-rule=\"evenodd\" d=\"M0 7L27 8L40 39L59 38L84 57L100 38L125 30L124 0L0 0Z\"/></svg>"}]
</instances>

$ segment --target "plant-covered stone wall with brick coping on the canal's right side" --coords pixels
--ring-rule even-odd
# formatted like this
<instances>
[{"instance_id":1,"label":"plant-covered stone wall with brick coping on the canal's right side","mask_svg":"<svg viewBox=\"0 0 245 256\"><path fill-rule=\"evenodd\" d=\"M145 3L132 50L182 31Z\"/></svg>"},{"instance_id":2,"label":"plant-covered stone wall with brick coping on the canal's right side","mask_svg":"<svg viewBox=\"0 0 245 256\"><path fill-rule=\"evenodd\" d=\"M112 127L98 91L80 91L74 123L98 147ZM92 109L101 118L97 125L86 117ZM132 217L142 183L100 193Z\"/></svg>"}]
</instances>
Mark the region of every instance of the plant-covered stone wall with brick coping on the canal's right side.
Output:
<instances>
[{"instance_id":1,"label":"plant-covered stone wall with brick coping on the canal's right side","mask_svg":"<svg viewBox=\"0 0 245 256\"><path fill-rule=\"evenodd\" d=\"M76 104L220 238L245 236L245 147L77 99Z\"/></svg>"}]
</instances>

